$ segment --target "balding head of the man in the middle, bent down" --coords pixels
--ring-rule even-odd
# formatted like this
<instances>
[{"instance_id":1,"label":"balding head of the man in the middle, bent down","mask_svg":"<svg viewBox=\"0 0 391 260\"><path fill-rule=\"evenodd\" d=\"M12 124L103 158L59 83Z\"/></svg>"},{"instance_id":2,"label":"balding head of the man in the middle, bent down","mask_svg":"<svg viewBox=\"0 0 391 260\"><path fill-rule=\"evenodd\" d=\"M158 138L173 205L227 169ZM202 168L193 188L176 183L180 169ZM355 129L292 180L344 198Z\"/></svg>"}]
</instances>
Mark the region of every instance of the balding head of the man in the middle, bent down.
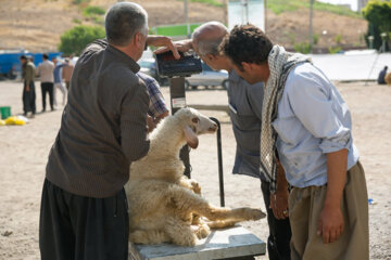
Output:
<instances>
[{"instance_id":1,"label":"balding head of the man in the middle, bent down","mask_svg":"<svg viewBox=\"0 0 391 260\"><path fill-rule=\"evenodd\" d=\"M192 46L197 54L213 69L228 69L227 57L220 55L218 46L228 29L219 22L209 22L198 27L192 34Z\"/></svg>"}]
</instances>

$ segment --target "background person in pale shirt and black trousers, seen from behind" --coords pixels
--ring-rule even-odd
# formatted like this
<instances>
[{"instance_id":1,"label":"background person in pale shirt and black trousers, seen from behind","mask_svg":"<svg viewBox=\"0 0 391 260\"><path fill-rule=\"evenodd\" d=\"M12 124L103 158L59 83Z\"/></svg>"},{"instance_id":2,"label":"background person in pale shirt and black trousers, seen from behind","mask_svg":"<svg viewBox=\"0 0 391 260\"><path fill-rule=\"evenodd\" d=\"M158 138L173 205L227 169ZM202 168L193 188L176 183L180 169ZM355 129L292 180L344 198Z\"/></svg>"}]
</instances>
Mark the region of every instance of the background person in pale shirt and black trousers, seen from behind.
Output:
<instances>
[{"instance_id":1,"label":"background person in pale shirt and black trousers, seen from behind","mask_svg":"<svg viewBox=\"0 0 391 260\"><path fill-rule=\"evenodd\" d=\"M46 96L49 94L49 103L51 110L54 110L53 106L53 86L54 86L54 64L49 61L47 53L42 54L42 63L38 65L37 76L41 81L41 93L42 93L42 112L46 112Z\"/></svg>"}]
</instances>

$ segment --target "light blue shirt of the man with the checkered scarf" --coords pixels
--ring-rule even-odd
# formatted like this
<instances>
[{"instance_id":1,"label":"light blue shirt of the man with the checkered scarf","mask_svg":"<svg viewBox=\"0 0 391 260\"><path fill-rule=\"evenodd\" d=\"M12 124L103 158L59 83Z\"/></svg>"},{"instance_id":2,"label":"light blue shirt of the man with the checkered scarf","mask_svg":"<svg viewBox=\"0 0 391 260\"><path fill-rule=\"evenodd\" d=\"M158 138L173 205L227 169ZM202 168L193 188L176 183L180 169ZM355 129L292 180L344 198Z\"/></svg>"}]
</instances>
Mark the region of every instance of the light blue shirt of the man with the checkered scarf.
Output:
<instances>
[{"instance_id":1,"label":"light blue shirt of the man with the checkered scarf","mask_svg":"<svg viewBox=\"0 0 391 260\"><path fill-rule=\"evenodd\" d=\"M346 170L358 160L348 105L329 79L310 63L290 72L273 127L278 133L279 159L293 186L327 183L328 153L346 148Z\"/></svg>"}]
</instances>

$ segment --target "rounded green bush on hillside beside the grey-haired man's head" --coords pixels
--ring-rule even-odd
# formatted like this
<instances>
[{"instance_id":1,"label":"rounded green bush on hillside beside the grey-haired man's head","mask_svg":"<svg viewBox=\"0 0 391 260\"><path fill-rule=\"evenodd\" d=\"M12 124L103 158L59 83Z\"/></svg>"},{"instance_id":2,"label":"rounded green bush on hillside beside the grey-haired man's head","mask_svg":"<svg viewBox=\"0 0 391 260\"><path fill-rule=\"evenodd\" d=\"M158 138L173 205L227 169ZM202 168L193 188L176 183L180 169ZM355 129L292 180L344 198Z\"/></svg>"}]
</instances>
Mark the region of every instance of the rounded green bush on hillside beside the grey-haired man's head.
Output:
<instances>
[{"instance_id":1,"label":"rounded green bush on hillside beside the grey-haired man's head","mask_svg":"<svg viewBox=\"0 0 391 260\"><path fill-rule=\"evenodd\" d=\"M83 49L96 39L105 37L103 27L78 25L61 36L59 50L65 55L79 55Z\"/></svg>"}]
</instances>

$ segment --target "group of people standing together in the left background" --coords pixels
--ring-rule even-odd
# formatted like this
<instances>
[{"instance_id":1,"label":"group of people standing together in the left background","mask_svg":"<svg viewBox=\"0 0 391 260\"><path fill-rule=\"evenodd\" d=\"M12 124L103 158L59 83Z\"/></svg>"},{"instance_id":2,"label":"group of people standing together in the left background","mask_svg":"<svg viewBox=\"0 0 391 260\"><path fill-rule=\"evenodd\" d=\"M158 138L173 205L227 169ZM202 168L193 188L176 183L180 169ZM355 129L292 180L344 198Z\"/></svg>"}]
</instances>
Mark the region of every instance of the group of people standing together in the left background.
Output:
<instances>
[{"instance_id":1,"label":"group of people standing together in the left background","mask_svg":"<svg viewBox=\"0 0 391 260\"><path fill-rule=\"evenodd\" d=\"M40 81L42 94L41 113L47 110L47 96L49 96L50 109L54 110L58 108L56 90L60 90L62 93L62 106L64 106L74 69L71 60L66 57L64 62L60 62L58 57L53 57L50 61L49 55L43 53L42 63L40 63L37 68L31 57L22 55L20 60L22 64L24 116L34 117L37 113L35 89L35 80L37 77ZM28 113L30 114L27 115Z\"/></svg>"}]
</instances>

